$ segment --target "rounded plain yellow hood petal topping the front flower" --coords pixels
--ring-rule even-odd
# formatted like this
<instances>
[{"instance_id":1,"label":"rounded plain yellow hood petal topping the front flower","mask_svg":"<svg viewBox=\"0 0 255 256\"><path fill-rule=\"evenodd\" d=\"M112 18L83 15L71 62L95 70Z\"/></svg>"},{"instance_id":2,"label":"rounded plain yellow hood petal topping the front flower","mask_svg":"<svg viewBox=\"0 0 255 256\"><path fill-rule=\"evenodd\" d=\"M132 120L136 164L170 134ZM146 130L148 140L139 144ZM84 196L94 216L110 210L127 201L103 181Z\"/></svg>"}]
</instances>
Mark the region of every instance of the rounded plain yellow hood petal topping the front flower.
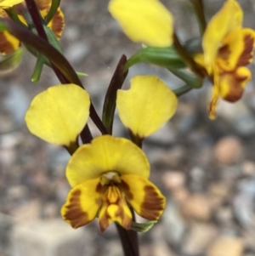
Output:
<instances>
[{"instance_id":1,"label":"rounded plain yellow hood petal topping the front flower","mask_svg":"<svg viewBox=\"0 0 255 256\"><path fill-rule=\"evenodd\" d=\"M144 152L130 140L105 135L93 139L91 145L82 145L71 156L66 168L71 186L106 172L138 174L147 178L150 165Z\"/></svg>"}]
</instances>

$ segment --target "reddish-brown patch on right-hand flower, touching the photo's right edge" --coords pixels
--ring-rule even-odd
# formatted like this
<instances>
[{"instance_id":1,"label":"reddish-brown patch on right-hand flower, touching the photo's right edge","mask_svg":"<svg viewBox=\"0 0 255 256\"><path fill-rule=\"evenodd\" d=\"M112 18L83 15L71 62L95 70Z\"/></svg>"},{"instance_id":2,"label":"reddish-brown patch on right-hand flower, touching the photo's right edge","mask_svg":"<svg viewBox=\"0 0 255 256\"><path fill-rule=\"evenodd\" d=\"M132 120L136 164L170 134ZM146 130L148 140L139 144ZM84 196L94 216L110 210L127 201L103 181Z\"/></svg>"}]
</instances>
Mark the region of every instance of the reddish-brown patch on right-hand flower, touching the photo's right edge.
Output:
<instances>
[{"instance_id":1,"label":"reddish-brown patch on right-hand flower, touching the photo's right edge","mask_svg":"<svg viewBox=\"0 0 255 256\"><path fill-rule=\"evenodd\" d=\"M236 67L248 65L252 61L254 37L246 35L244 37L244 49L237 61Z\"/></svg>"}]
</instances>

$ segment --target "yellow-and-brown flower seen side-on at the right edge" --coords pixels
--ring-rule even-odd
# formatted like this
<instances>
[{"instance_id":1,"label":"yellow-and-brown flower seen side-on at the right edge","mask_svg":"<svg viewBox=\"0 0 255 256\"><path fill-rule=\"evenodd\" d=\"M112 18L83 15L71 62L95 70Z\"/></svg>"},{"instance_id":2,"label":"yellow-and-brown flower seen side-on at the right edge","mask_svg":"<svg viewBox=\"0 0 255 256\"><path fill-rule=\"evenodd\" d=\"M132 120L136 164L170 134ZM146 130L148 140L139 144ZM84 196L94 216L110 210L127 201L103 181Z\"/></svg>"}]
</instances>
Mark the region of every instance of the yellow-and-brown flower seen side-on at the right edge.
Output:
<instances>
[{"instance_id":1,"label":"yellow-and-brown flower seen side-on at the right edge","mask_svg":"<svg viewBox=\"0 0 255 256\"><path fill-rule=\"evenodd\" d=\"M252 62L255 31L242 28L243 13L235 0L227 0L212 17L202 39L203 54L195 60L212 77L212 100L209 117L215 119L218 97L235 102L240 100L251 71L245 65Z\"/></svg>"}]
</instances>

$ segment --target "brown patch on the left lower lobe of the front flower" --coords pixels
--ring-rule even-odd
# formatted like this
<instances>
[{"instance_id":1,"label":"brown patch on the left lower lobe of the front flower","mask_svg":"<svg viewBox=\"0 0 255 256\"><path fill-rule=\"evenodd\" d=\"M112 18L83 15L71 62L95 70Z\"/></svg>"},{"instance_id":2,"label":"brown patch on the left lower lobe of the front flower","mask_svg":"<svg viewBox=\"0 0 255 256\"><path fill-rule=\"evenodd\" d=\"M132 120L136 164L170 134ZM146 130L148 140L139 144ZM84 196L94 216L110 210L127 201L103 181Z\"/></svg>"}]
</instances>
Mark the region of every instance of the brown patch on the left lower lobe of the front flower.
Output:
<instances>
[{"instance_id":1,"label":"brown patch on the left lower lobe of the front flower","mask_svg":"<svg viewBox=\"0 0 255 256\"><path fill-rule=\"evenodd\" d=\"M92 219L88 219L88 213L82 211L80 196L82 191L76 190L71 192L70 202L65 204L65 213L63 218L70 222L75 229L82 225L88 224Z\"/></svg>"}]
</instances>

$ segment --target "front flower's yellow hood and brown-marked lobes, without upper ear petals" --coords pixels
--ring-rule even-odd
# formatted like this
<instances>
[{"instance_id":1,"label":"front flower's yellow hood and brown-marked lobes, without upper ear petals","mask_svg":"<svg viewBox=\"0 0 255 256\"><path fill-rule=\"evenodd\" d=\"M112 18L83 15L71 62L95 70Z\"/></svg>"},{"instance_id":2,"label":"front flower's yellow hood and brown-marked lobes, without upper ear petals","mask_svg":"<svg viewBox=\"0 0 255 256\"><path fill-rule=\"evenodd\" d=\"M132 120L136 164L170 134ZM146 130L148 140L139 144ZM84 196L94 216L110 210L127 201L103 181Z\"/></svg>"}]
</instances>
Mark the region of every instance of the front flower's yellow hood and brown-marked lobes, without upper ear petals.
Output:
<instances>
[{"instance_id":1,"label":"front flower's yellow hood and brown-marked lobes, without upper ear petals","mask_svg":"<svg viewBox=\"0 0 255 256\"><path fill-rule=\"evenodd\" d=\"M78 228L98 217L102 232L113 221L130 229L130 206L145 219L159 219L165 197L148 180L149 174L144 152L130 140L110 135L93 139L67 165L72 189L61 209L63 219Z\"/></svg>"}]
</instances>

